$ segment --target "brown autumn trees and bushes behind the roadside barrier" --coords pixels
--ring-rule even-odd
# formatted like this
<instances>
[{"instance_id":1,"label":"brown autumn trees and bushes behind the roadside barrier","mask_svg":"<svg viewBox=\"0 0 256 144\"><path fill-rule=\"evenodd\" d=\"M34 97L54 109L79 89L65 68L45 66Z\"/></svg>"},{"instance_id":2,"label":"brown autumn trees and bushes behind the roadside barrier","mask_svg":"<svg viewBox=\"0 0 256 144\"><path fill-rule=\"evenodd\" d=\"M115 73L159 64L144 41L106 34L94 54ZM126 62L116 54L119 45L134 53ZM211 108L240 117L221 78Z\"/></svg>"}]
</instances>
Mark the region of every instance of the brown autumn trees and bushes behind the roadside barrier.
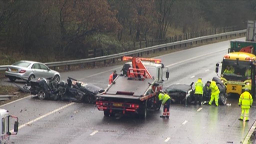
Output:
<instances>
[{"instance_id":1,"label":"brown autumn trees and bushes behind the roadside barrier","mask_svg":"<svg viewBox=\"0 0 256 144\"><path fill-rule=\"evenodd\" d=\"M0 57L55 61L129 50L162 39L255 18L254 1L0 1Z\"/></svg>"}]
</instances>

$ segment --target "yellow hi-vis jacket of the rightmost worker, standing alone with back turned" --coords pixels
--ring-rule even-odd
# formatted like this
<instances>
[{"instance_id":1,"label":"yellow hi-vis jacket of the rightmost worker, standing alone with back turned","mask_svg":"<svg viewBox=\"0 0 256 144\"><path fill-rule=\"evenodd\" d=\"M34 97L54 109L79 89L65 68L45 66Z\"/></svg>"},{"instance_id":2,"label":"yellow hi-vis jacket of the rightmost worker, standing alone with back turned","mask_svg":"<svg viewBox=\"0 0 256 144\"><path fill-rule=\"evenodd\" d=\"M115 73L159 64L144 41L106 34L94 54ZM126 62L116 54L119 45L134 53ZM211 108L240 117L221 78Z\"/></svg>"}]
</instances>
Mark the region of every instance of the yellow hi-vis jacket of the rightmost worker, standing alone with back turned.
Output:
<instances>
[{"instance_id":1,"label":"yellow hi-vis jacket of the rightmost worker, standing alone with back turned","mask_svg":"<svg viewBox=\"0 0 256 144\"><path fill-rule=\"evenodd\" d=\"M252 95L250 92L245 91L240 95L238 105L241 105L242 103L242 108L244 109L250 109L250 106L252 106Z\"/></svg>"}]
</instances>

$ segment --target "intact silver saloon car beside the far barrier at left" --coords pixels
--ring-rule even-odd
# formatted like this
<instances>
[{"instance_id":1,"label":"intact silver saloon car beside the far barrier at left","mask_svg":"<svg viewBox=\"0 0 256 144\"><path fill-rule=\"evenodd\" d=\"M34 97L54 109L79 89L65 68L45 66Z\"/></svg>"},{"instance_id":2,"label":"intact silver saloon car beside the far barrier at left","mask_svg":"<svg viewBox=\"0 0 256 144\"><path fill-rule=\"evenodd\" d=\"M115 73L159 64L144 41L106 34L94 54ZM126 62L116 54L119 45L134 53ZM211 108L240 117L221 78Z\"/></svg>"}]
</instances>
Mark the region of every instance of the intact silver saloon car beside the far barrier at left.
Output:
<instances>
[{"instance_id":1,"label":"intact silver saloon car beside the far barrier at left","mask_svg":"<svg viewBox=\"0 0 256 144\"><path fill-rule=\"evenodd\" d=\"M59 72L51 70L45 64L27 60L21 60L8 66L5 71L5 76L8 77L10 81L15 81L16 79L30 81L36 77L52 77L56 82L60 80Z\"/></svg>"}]
</instances>

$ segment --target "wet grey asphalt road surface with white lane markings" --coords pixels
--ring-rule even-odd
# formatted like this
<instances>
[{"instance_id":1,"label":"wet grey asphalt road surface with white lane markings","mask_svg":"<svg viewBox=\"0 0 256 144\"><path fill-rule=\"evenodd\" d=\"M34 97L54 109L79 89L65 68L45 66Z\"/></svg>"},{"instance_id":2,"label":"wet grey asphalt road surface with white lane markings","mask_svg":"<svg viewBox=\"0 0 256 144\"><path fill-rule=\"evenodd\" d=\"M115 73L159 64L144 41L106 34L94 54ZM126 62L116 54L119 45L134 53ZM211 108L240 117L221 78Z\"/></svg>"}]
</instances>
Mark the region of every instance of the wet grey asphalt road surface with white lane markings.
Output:
<instances>
[{"instance_id":1,"label":"wet grey asphalt road surface with white lane markings","mask_svg":"<svg viewBox=\"0 0 256 144\"><path fill-rule=\"evenodd\" d=\"M236 40L244 40L239 38ZM228 52L229 41L191 48L159 56L169 67L171 84L190 84L198 77L203 82L216 76L215 64ZM109 75L121 65L61 73L102 88ZM7 79L2 84L10 84ZM20 120L17 136L11 141L23 143L240 143L256 119L255 106L250 110L250 121L243 128L238 120L241 109L238 97L230 97L231 106L171 105L170 118L161 119L160 111L151 111L146 120L133 116L104 117L91 104L25 98L5 105L10 114ZM199 109L200 108L200 109Z\"/></svg>"}]
</instances>

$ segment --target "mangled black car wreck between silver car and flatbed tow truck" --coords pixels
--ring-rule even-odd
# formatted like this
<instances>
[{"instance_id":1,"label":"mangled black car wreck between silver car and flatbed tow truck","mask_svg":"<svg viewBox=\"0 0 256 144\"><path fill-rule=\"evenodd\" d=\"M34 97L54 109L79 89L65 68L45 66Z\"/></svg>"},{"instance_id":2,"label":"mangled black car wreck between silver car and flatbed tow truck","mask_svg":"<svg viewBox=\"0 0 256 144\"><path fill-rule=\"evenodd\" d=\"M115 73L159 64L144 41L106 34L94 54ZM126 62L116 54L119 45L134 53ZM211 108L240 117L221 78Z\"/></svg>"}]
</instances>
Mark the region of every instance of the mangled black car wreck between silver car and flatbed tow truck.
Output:
<instances>
[{"instance_id":1,"label":"mangled black car wreck between silver car and flatbed tow truck","mask_svg":"<svg viewBox=\"0 0 256 144\"><path fill-rule=\"evenodd\" d=\"M95 103L95 95L104 91L98 86L83 83L71 77L68 77L67 83L64 81L57 83L52 78L35 78L31 79L24 87L16 86L22 92L37 95L41 100L67 100L85 103Z\"/></svg>"}]
</instances>

